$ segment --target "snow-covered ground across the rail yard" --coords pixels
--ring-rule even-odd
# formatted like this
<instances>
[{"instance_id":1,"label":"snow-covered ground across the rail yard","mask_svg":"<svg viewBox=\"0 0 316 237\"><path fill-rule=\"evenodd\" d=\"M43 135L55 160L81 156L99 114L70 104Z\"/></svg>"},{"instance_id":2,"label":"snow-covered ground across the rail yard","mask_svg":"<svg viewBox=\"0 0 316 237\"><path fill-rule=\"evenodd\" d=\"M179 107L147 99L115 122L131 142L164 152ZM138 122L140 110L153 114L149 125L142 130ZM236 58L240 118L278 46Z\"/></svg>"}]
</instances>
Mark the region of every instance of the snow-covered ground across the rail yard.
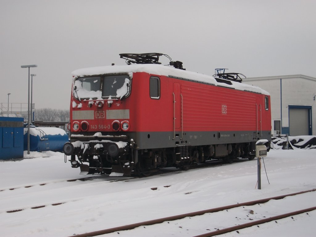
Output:
<instances>
[{"instance_id":1,"label":"snow-covered ground across the rail yard","mask_svg":"<svg viewBox=\"0 0 316 237\"><path fill-rule=\"evenodd\" d=\"M255 188L256 159L117 182L124 178L94 175L67 182L85 176L64 163L64 154L31 152L28 157L0 162L0 236L71 236L316 188L316 149L270 150L264 158L270 184L262 167L261 190ZM45 207L32 209L39 206ZM253 212L236 208L119 236L195 236L312 206L316 192L272 200L252 207ZM21 211L7 212L12 210ZM311 211L221 236L314 236L315 223L316 211Z\"/></svg>"}]
</instances>

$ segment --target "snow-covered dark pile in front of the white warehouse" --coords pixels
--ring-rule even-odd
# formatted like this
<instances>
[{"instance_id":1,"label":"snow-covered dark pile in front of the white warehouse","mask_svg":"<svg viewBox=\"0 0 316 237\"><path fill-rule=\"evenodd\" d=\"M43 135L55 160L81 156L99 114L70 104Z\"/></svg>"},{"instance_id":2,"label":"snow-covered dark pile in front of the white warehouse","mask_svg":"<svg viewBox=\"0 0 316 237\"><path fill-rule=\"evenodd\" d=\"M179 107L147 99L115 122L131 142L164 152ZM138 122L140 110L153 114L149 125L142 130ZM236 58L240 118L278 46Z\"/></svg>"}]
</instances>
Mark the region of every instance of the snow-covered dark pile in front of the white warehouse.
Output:
<instances>
[{"instance_id":1,"label":"snow-covered dark pile in front of the white warehouse","mask_svg":"<svg viewBox=\"0 0 316 237\"><path fill-rule=\"evenodd\" d=\"M286 149L286 136L273 136L272 149ZM289 149L315 149L316 136L289 136Z\"/></svg>"}]
</instances>

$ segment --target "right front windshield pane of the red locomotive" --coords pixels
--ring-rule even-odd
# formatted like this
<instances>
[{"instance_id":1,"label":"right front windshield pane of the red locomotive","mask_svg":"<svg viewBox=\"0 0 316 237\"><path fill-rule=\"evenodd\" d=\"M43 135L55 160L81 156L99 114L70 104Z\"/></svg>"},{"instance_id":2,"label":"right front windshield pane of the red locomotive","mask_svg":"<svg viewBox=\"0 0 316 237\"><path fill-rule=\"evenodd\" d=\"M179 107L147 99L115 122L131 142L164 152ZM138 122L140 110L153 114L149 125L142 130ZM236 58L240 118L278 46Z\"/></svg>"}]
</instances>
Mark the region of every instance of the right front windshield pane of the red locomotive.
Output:
<instances>
[{"instance_id":1,"label":"right front windshield pane of the red locomotive","mask_svg":"<svg viewBox=\"0 0 316 237\"><path fill-rule=\"evenodd\" d=\"M102 97L122 99L130 94L131 80L128 75L103 76Z\"/></svg>"}]
</instances>

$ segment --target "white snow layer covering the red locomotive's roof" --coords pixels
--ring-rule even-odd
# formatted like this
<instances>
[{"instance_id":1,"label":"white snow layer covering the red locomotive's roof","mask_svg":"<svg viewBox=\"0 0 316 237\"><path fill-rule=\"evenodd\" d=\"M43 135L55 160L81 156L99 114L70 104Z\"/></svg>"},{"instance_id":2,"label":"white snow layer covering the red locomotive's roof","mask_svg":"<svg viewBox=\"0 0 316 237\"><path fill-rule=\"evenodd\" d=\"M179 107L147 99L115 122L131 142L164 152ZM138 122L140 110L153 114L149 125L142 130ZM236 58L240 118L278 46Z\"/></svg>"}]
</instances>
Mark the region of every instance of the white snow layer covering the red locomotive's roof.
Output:
<instances>
[{"instance_id":1,"label":"white snow layer covering the red locomotive's roof","mask_svg":"<svg viewBox=\"0 0 316 237\"><path fill-rule=\"evenodd\" d=\"M81 76L93 76L111 73L127 73L132 78L134 72L147 72L149 74L160 75L160 76L171 76L176 78L181 78L190 81L197 81L207 84L214 84L216 86L224 86L228 88L234 88L237 90L246 90L261 94L270 95L267 91L248 84L243 84L240 82L229 81L221 79L222 81L231 82L231 85L224 82L217 82L213 76L200 74L197 72L191 72L186 70L176 69L170 66L164 66L160 64L132 64L132 65L113 65L113 66L102 66L102 67L92 67L83 68L73 71L71 74L74 76L74 80Z\"/></svg>"}]
</instances>

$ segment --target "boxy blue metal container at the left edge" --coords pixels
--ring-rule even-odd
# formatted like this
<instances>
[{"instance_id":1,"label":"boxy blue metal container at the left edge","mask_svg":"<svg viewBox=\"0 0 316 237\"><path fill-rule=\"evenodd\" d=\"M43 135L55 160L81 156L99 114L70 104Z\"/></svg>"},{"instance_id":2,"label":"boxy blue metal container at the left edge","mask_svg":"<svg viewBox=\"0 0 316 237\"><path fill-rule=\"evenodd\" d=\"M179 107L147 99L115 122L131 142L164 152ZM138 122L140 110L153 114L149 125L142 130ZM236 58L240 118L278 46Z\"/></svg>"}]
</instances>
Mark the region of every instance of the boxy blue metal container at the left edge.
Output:
<instances>
[{"instance_id":1,"label":"boxy blue metal container at the left edge","mask_svg":"<svg viewBox=\"0 0 316 237\"><path fill-rule=\"evenodd\" d=\"M23 158L23 118L0 117L0 160Z\"/></svg>"}]
</instances>

